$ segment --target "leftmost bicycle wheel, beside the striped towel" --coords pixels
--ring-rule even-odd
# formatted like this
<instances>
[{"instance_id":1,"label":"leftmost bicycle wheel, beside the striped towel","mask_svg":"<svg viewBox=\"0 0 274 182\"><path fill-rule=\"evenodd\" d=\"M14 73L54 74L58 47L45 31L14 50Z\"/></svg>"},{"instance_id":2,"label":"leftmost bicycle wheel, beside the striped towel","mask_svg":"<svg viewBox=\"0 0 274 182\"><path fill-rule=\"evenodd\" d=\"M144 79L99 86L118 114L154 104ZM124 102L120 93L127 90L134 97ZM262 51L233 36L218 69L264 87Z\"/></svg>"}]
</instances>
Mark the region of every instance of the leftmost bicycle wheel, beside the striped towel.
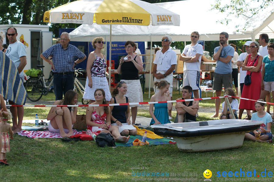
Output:
<instances>
[{"instance_id":1,"label":"leftmost bicycle wheel, beside the striped towel","mask_svg":"<svg viewBox=\"0 0 274 182\"><path fill-rule=\"evenodd\" d=\"M31 77L26 81L27 98L30 101L39 101L43 95L43 82L38 77Z\"/></svg>"}]
</instances>

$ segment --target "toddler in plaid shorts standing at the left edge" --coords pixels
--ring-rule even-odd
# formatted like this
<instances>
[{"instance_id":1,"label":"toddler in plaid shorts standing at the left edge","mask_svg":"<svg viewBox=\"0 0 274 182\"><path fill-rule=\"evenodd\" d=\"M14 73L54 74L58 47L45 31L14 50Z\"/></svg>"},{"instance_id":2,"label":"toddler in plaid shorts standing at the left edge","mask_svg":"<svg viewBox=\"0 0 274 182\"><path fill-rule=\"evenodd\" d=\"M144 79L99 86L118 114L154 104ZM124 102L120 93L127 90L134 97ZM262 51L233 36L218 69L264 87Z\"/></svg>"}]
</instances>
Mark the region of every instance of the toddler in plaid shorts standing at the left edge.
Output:
<instances>
[{"instance_id":1,"label":"toddler in plaid shorts standing at the left edge","mask_svg":"<svg viewBox=\"0 0 274 182\"><path fill-rule=\"evenodd\" d=\"M7 118L3 118L3 109L0 111L0 149L1 149L1 156L0 156L0 165L6 165L8 166L9 164L7 163L6 160L6 153L10 151L9 147L9 134L10 134L10 139L13 139L13 132L11 129L11 126L9 123L6 121L11 118L11 113L9 112L9 115ZM9 134L8 134L9 132Z\"/></svg>"}]
</instances>

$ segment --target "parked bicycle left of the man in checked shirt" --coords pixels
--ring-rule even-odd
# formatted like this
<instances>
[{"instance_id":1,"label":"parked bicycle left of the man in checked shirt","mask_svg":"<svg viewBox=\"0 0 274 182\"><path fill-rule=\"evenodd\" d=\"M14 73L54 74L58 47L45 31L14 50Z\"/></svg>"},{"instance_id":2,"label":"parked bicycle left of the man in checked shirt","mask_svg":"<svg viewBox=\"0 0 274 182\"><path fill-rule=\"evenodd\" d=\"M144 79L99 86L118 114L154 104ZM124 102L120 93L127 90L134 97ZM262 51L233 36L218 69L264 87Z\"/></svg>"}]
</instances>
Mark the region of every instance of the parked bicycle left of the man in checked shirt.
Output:
<instances>
[{"instance_id":1,"label":"parked bicycle left of the man in checked shirt","mask_svg":"<svg viewBox=\"0 0 274 182\"><path fill-rule=\"evenodd\" d=\"M27 98L30 101L36 102L39 101L42 95L47 95L48 91L53 91L53 88L51 86L53 85L53 73L51 71L49 78L47 79L47 82L45 82L44 73L43 73L43 67L42 65L37 65L37 68L39 68L42 72L38 75L38 77L30 77L26 81L26 92L27 92ZM46 86L46 83L49 83L48 86Z\"/></svg>"}]
</instances>

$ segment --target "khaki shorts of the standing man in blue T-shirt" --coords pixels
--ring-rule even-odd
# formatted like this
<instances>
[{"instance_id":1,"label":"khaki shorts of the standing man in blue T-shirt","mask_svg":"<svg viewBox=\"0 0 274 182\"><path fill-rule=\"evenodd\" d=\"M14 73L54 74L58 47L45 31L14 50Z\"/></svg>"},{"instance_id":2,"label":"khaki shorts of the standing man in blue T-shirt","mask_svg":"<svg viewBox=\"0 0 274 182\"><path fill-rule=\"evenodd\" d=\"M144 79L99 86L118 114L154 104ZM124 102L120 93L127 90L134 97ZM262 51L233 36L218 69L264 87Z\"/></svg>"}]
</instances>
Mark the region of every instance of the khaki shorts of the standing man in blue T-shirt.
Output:
<instances>
[{"instance_id":1,"label":"khaki shorts of the standing man in blue T-shirt","mask_svg":"<svg viewBox=\"0 0 274 182\"><path fill-rule=\"evenodd\" d=\"M213 78L213 90L222 90L232 88L232 74L218 74L214 72Z\"/></svg>"}]
</instances>

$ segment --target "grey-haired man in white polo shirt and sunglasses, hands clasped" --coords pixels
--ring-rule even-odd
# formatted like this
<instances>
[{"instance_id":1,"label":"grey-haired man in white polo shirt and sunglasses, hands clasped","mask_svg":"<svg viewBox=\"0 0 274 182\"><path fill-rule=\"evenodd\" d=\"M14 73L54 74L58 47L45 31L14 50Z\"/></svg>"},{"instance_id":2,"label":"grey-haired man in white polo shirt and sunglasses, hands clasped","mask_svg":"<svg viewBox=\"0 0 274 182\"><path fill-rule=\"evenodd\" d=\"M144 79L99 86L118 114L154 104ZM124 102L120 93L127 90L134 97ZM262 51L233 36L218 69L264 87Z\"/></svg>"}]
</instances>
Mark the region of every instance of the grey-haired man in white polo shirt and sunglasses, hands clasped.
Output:
<instances>
[{"instance_id":1,"label":"grey-haired man in white polo shirt and sunglasses, hands clasped","mask_svg":"<svg viewBox=\"0 0 274 182\"><path fill-rule=\"evenodd\" d=\"M158 50L155 54L154 58L154 66L153 66L153 76L154 82L161 80L166 80L170 83L169 91L172 100L172 83L173 83L173 71L175 70L175 66L177 64L177 55L171 50L170 44L172 43L172 39L169 35L165 35L162 38L162 46L163 48ZM159 89L154 88L154 92L158 92ZM171 119L171 110L168 111L168 115Z\"/></svg>"}]
</instances>

